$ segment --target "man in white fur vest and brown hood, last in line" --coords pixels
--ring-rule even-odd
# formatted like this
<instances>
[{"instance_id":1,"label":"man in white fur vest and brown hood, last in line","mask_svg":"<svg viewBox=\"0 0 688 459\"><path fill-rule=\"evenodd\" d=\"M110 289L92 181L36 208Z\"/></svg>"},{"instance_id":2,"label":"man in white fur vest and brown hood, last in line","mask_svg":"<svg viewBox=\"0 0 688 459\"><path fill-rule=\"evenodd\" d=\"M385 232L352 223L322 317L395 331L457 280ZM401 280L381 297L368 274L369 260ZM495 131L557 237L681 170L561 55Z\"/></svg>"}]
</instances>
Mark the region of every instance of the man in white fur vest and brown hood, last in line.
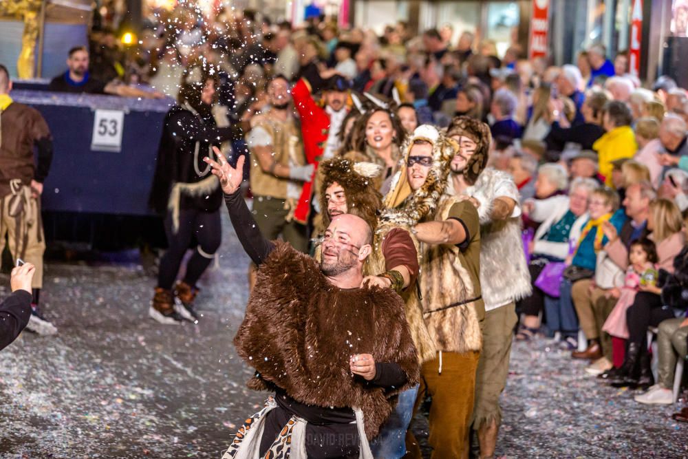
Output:
<instances>
[{"instance_id":1,"label":"man in white fur vest and brown hood, last in line","mask_svg":"<svg viewBox=\"0 0 688 459\"><path fill-rule=\"evenodd\" d=\"M507 173L484 169L491 142L488 125L469 116L457 116L447 136L460 147L449 164L447 194L469 197L480 216L480 287L485 322L472 424L477 430L480 457L490 458L502 422L499 394L508 375L517 322L515 301L531 292L521 238L519 192Z\"/></svg>"}]
</instances>

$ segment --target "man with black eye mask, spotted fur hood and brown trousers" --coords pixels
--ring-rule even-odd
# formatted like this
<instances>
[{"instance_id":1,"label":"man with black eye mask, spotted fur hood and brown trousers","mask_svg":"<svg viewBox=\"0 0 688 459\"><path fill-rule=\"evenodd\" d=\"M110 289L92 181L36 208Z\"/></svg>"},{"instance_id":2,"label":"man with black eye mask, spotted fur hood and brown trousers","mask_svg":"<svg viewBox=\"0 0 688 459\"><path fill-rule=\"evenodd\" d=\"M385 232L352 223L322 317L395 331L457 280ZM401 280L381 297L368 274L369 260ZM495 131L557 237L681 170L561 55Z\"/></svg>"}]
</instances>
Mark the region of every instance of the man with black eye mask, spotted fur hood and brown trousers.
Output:
<instances>
[{"instance_id":1,"label":"man with black eye mask, spotted fur hood and brown trousers","mask_svg":"<svg viewBox=\"0 0 688 459\"><path fill-rule=\"evenodd\" d=\"M433 458L461 458L467 452L482 346L478 215L471 202L444 193L456 149L456 142L435 127L416 128L380 217L408 226L421 243L421 305L436 354L421 366L416 408L425 396L432 397L428 441ZM417 442L407 446L411 457L421 457Z\"/></svg>"}]
</instances>

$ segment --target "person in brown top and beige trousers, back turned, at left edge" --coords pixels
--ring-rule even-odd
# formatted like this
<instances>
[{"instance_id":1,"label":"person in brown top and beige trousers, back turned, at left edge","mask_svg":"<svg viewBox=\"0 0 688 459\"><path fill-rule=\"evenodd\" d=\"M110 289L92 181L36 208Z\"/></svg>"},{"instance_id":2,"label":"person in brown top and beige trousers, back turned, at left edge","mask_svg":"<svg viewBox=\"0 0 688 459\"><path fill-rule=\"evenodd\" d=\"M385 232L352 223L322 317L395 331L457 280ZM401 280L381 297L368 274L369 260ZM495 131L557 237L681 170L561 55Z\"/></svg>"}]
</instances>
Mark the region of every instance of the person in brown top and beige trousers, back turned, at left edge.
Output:
<instances>
[{"instance_id":1,"label":"person in brown top and beige trousers, back turned, at left edge","mask_svg":"<svg viewBox=\"0 0 688 459\"><path fill-rule=\"evenodd\" d=\"M39 111L14 102L11 89L8 71L0 65L0 253L7 238L12 258L33 264L28 328L39 334L55 334L57 329L38 308L45 252L41 193L52 162L52 136ZM34 162L34 149L38 162Z\"/></svg>"}]
</instances>

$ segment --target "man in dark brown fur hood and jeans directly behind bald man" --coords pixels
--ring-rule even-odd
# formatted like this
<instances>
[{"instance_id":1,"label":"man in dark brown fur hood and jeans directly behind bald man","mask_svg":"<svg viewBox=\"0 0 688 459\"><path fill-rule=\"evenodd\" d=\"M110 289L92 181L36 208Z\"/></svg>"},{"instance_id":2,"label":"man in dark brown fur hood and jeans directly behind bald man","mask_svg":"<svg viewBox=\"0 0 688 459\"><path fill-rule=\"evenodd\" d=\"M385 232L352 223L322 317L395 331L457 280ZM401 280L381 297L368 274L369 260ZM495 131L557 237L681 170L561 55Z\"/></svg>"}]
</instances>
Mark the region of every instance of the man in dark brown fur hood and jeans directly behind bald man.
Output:
<instances>
[{"instance_id":1,"label":"man in dark brown fur hood and jeans directly behind bald man","mask_svg":"<svg viewBox=\"0 0 688 459\"><path fill-rule=\"evenodd\" d=\"M363 282L380 288L394 288L404 299L411 337L420 363L423 363L432 359L435 352L422 319L416 288L418 241L405 229L378 222L378 212L383 209L383 203L374 179L381 169L378 164L354 163L344 158L321 162L319 182L323 225L329 226L337 215L351 213L363 218L373 228L373 250L363 266L363 274L366 275ZM417 394L418 386L415 386L399 395L395 411L371 445L376 458L394 459L405 455L406 431Z\"/></svg>"}]
</instances>

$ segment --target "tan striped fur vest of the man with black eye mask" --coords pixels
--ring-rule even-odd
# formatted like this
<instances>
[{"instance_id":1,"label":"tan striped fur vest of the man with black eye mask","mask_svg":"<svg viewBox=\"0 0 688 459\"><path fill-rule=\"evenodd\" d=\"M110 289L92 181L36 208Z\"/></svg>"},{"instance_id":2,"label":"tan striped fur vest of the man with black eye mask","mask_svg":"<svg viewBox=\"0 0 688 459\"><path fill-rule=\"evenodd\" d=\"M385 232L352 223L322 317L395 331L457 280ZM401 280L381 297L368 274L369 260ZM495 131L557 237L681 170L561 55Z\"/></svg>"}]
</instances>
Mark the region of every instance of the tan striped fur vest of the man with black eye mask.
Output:
<instances>
[{"instance_id":1,"label":"tan striped fur vest of the man with black eye mask","mask_svg":"<svg viewBox=\"0 0 688 459\"><path fill-rule=\"evenodd\" d=\"M442 195L433 220L447 220L451 206L459 201L459 198ZM459 252L460 249L453 245L421 244L423 318L438 351L463 353L482 348L481 322L485 309L480 299L480 285L473 285L471 276L458 259ZM461 304L446 308L455 303Z\"/></svg>"}]
</instances>

